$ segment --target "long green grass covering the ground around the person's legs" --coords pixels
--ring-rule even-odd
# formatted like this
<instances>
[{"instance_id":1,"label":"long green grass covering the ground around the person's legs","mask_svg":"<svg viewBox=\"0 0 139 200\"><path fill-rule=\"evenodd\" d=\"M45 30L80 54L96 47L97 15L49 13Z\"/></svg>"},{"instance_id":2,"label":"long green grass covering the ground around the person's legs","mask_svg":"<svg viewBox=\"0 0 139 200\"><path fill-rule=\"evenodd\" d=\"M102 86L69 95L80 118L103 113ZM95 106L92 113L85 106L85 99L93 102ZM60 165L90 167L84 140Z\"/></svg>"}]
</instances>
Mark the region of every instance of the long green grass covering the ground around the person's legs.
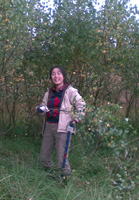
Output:
<instances>
[{"instance_id":1,"label":"long green grass covering the ground around the person's legs","mask_svg":"<svg viewBox=\"0 0 139 200\"><path fill-rule=\"evenodd\" d=\"M76 136L70 152L73 174L68 185L62 186L58 178L50 178L40 166L40 145L41 139L1 137L0 200L138 200L136 159L136 163L133 159L123 161L123 165L132 166L128 173L135 181L128 193L127 188L120 190L112 184L116 160L110 152L91 153L90 148L85 153Z\"/></svg>"}]
</instances>

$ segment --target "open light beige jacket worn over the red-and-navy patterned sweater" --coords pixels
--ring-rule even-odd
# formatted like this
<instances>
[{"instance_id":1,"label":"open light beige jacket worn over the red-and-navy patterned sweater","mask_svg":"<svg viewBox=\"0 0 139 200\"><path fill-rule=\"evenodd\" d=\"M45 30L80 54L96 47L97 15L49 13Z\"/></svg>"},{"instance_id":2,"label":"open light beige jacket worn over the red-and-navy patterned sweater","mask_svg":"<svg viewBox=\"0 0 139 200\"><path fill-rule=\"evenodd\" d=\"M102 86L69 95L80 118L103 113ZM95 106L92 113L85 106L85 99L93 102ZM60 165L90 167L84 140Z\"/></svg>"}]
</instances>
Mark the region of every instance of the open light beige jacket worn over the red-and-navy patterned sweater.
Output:
<instances>
[{"instance_id":1,"label":"open light beige jacket worn over the red-and-navy patterned sweater","mask_svg":"<svg viewBox=\"0 0 139 200\"><path fill-rule=\"evenodd\" d=\"M45 93L41 105L47 106L48 96L49 90ZM85 115L85 106L86 103L78 93L78 90L69 85L65 91L63 101L60 106L57 132L67 132L69 122L72 120L76 120L77 122L81 121ZM43 130L45 123L44 119Z\"/></svg>"}]
</instances>

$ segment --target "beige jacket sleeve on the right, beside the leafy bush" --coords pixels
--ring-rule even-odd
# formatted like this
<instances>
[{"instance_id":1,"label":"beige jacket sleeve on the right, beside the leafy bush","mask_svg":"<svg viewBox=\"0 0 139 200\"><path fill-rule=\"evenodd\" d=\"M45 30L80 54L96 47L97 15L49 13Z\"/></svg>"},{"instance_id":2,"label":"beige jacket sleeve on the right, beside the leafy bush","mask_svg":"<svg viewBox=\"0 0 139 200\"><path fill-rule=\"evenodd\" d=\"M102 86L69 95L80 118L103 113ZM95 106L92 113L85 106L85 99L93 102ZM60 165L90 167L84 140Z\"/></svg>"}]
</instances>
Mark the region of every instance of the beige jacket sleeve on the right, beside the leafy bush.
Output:
<instances>
[{"instance_id":1,"label":"beige jacket sleeve on the right, beside the leafy bush","mask_svg":"<svg viewBox=\"0 0 139 200\"><path fill-rule=\"evenodd\" d=\"M82 96L78 93L78 90L75 88L72 88L70 100L72 104L73 120L76 120L77 122L79 122L85 116L86 103L83 100Z\"/></svg>"}]
</instances>

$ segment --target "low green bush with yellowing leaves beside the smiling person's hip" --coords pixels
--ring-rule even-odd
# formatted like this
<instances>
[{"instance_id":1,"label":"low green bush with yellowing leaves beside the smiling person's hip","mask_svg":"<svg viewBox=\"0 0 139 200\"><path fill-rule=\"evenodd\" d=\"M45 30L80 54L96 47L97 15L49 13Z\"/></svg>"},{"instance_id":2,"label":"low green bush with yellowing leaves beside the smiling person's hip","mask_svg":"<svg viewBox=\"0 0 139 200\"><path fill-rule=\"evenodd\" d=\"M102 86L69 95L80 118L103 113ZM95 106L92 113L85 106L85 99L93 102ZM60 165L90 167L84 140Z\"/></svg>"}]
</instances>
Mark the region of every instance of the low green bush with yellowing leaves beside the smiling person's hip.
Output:
<instances>
[{"instance_id":1,"label":"low green bush with yellowing leaves beside the smiling person's hip","mask_svg":"<svg viewBox=\"0 0 139 200\"><path fill-rule=\"evenodd\" d=\"M136 135L128 118L123 118L122 107L111 104L100 107L88 107L87 115L79 134L86 146L96 145L97 148L110 148L114 155L119 156L120 151L126 151L129 135ZM100 147L99 147L100 146ZM122 152L123 153L123 152Z\"/></svg>"}]
</instances>

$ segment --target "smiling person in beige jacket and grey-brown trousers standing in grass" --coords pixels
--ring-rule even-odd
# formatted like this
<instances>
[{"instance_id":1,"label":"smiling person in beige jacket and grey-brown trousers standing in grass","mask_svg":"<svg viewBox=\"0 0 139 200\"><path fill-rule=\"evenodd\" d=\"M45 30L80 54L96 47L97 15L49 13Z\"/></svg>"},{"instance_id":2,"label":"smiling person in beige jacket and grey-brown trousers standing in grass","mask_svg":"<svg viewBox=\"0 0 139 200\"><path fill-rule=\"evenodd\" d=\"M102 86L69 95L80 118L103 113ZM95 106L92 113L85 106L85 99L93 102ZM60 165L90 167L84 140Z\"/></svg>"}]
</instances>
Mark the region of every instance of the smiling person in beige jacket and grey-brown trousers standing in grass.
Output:
<instances>
[{"instance_id":1,"label":"smiling person in beige jacket and grey-brown trousers standing in grass","mask_svg":"<svg viewBox=\"0 0 139 200\"><path fill-rule=\"evenodd\" d=\"M72 121L73 124L81 121L85 115L85 102L77 89L66 83L66 72L60 66L55 66L50 70L50 79L53 87L45 93L41 106L47 106L42 114L45 115L43 139L40 151L40 162L46 170L54 167L52 162L52 152L54 147L57 153L57 167L62 174L71 173L68 161L68 152L65 166L62 167L65 146L67 141L67 127ZM40 112L40 107L38 107ZM69 141L69 146L71 137Z\"/></svg>"}]
</instances>

